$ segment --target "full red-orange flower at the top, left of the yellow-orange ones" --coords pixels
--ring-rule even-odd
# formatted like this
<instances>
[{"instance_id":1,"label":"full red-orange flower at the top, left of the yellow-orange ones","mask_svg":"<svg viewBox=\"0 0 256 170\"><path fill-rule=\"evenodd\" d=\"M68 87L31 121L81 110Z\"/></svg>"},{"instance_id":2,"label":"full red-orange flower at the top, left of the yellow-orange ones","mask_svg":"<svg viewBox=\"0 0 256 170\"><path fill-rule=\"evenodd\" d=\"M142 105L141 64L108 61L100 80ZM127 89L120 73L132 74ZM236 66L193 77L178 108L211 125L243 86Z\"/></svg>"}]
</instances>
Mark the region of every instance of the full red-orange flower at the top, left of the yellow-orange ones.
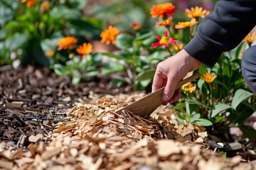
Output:
<instances>
[{"instance_id":1,"label":"full red-orange flower at the top, left of the yellow-orange ones","mask_svg":"<svg viewBox=\"0 0 256 170\"><path fill-rule=\"evenodd\" d=\"M169 16L174 12L175 6L171 3L154 5L150 10L150 14L153 18L156 18L157 16L163 18L164 16Z\"/></svg>"}]
</instances>

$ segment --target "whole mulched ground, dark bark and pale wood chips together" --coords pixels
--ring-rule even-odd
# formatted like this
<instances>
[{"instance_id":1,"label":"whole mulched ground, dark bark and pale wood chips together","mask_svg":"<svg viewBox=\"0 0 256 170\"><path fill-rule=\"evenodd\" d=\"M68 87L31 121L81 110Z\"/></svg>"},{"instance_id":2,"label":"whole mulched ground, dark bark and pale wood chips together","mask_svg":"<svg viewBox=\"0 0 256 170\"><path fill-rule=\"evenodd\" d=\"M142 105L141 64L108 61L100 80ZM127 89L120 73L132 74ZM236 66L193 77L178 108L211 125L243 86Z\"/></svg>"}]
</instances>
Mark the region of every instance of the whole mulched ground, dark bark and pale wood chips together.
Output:
<instances>
[{"instance_id":1,"label":"whole mulched ground, dark bark and pale wood chips together","mask_svg":"<svg viewBox=\"0 0 256 170\"><path fill-rule=\"evenodd\" d=\"M114 110L145 95L129 86L106 86L106 79L72 85L68 77L35 67L1 67L0 77L3 169L255 167L245 148L223 159L205 128L178 125L169 107L151 118L117 115Z\"/></svg>"}]
</instances>

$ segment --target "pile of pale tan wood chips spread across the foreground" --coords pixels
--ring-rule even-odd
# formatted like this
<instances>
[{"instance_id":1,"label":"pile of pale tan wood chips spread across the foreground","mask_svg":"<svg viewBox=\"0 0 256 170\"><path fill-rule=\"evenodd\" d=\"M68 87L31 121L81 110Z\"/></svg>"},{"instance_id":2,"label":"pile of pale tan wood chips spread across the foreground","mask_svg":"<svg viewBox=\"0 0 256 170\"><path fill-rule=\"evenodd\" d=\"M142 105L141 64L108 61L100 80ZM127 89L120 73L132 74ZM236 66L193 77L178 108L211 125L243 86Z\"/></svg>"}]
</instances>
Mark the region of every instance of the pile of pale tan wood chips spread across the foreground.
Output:
<instances>
[{"instance_id":1,"label":"pile of pale tan wood chips spread across the foreground","mask_svg":"<svg viewBox=\"0 0 256 170\"><path fill-rule=\"evenodd\" d=\"M0 143L3 169L253 169L240 156L208 150L204 129L177 125L166 114L140 118L114 98L78 103L48 137L27 150ZM32 138L32 137L31 137Z\"/></svg>"}]
</instances>

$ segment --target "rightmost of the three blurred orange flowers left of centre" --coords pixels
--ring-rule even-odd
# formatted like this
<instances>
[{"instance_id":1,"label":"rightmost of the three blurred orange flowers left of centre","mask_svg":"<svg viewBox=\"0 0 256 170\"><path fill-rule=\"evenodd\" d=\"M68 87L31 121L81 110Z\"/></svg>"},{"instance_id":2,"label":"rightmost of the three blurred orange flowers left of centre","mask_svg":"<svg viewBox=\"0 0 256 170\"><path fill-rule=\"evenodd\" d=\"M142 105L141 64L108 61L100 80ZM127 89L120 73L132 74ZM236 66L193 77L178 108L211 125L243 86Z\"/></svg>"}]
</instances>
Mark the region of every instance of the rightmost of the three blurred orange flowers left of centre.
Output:
<instances>
[{"instance_id":1,"label":"rightmost of the three blurred orange flowers left of centre","mask_svg":"<svg viewBox=\"0 0 256 170\"><path fill-rule=\"evenodd\" d=\"M116 27L109 26L108 29L103 30L103 32L100 34L100 37L102 38L100 42L106 42L107 45L109 45L110 43L115 45L115 40L119 33L120 31Z\"/></svg>"}]
</instances>

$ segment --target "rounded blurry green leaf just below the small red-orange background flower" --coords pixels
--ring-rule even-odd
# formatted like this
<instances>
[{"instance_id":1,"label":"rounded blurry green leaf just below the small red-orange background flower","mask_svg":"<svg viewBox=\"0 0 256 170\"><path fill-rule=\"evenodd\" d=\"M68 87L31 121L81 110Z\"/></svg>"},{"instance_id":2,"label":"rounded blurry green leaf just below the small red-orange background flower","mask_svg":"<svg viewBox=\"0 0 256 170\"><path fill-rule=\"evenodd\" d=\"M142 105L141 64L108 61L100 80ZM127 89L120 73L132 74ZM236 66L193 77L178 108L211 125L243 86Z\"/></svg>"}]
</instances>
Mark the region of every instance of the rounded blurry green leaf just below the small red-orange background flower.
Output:
<instances>
[{"instance_id":1,"label":"rounded blurry green leaf just below the small red-orange background flower","mask_svg":"<svg viewBox=\"0 0 256 170\"><path fill-rule=\"evenodd\" d=\"M132 43L133 43L133 38L131 35L125 34L125 33L117 35L116 45L120 49L128 50L129 48L132 47Z\"/></svg>"}]
</instances>

